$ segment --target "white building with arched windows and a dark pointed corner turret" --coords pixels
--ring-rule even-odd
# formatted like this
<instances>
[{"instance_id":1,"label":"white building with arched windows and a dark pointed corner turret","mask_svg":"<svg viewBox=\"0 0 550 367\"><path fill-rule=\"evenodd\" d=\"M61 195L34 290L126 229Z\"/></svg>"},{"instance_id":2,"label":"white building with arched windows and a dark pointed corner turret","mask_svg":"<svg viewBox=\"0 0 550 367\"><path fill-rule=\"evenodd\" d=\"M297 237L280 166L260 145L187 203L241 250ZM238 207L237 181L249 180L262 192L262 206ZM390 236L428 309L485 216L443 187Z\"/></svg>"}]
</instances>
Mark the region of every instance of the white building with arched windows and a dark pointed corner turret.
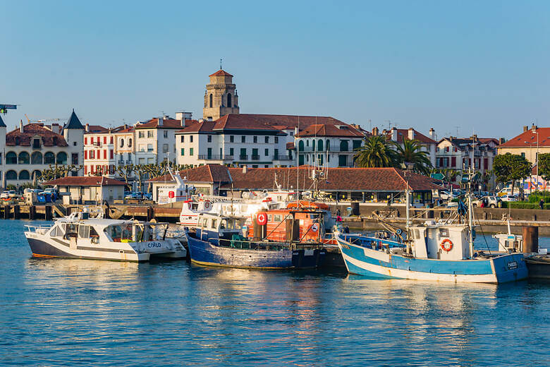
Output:
<instances>
[{"instance_id":1,"label":"white building with arched windows and a dark pointed corner turret","mask_svg":"<svg viewBox=\"0 0 550 367\"><path fill-rule=\"evenodd\" d=\"M1 120L0 120L1 121ZM40 176L41 171L56 164L84 164L82 139L84 126L74 110L67 124L26 124L6 134L4 121L0 124L2 176L6 185L20 185ZM73 172L78 175L82 170Z\"/></svg>"}]
</instances>

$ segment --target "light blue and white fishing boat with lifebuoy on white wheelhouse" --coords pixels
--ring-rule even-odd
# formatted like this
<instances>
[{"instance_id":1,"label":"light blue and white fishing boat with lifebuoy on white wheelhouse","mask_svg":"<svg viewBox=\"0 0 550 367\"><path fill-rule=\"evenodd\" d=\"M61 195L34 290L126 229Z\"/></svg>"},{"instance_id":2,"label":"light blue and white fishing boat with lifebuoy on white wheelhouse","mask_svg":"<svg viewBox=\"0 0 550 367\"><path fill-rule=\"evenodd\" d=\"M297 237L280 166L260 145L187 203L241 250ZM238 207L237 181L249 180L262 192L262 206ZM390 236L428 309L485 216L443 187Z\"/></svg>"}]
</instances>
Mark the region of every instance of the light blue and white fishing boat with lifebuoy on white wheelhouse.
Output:
<instances>
[{"instance_id":1,"label":"light blue and white fishing boat with lifebuoy on white wheelhouse","mask_svg":"<svg viewBox=\"0 0 550 367\"><path fill-rule=\"evenodd\" d=\"M522 253L474 251L471 204L466 224L461 219L466 212L463 205L463 215L453 220L411 225L409 195L407 191L407 236L403 243L360 234L336 234L348 272L438 282L503 283L527 278Z\"/></svg>"}]
</instances>

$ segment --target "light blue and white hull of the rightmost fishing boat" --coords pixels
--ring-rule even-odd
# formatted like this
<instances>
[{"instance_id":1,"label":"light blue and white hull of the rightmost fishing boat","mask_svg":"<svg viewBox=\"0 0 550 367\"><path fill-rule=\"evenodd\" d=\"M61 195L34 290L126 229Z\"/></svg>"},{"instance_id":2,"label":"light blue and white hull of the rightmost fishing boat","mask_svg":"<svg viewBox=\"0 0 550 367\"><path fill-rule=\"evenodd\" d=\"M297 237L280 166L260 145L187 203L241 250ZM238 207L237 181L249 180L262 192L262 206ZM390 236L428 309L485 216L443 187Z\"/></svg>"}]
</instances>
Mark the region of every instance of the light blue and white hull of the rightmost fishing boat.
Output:
<instances>
[{"instance_id":1,"label":"light blue and white hull of the rightmost fishing boat","mask_svg":"<svg viewBox=\"0 0 550 367\"><path fill-rule=\"evenodd\" d=\"M435 282L504 283L527 278L523 254L475 260L410 258L358 246L338 237L348 272L370 277Z\"/></svg>"}]
</instances>

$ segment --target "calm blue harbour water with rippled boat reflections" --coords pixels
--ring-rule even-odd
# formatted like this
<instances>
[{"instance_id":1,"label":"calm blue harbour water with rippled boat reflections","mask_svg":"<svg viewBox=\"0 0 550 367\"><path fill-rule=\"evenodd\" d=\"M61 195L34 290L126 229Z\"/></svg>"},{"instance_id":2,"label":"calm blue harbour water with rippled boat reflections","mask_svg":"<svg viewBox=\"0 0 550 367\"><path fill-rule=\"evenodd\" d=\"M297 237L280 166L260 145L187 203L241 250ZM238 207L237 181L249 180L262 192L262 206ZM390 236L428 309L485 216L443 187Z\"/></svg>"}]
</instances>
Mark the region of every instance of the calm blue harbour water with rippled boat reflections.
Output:
<instances>
[{"instance_id":1,"label":"calm blue harbour water with rippled boat reflections","mask_svg":"<svg viewBox=\"0 0 550 367\"><path fill-rule=\"evenodd\" d=\"M0 366L550 366L550 283L39 260L23 224L0 220Z\"/></svg>"}]
</instances>

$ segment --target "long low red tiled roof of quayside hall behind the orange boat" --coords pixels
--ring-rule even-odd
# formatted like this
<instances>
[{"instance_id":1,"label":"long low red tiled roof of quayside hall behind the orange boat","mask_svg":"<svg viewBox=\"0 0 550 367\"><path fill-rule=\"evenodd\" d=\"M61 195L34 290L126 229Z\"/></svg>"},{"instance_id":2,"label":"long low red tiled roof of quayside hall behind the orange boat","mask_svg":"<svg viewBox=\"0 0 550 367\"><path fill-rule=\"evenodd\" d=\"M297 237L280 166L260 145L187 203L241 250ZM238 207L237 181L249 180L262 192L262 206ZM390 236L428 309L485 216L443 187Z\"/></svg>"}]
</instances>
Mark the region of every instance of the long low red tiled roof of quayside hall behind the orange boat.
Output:
<instances>
[{"instance_id":1,"label":"long low red tiled roof of quayside hall behind the orange boat","mask_svg":"<svg viewBox=\"0 0 550 367\"><path fill-rule=\"evenodd\" d=\"M312 187L310 167L290 168L252 168L243 173L241 168L229 168L233 188L236 190L264 190L274 187L275 175L282 181L296 183L297 175L300 188ZM437 189L426 176L411 174L409 186L413 191ZM403 171L396 168L329 168L326 179L319 181L319 190L324 191L404 191L407 183ZM231 188L225 184L223 188Z\"/></svg>"}]
</instances>

